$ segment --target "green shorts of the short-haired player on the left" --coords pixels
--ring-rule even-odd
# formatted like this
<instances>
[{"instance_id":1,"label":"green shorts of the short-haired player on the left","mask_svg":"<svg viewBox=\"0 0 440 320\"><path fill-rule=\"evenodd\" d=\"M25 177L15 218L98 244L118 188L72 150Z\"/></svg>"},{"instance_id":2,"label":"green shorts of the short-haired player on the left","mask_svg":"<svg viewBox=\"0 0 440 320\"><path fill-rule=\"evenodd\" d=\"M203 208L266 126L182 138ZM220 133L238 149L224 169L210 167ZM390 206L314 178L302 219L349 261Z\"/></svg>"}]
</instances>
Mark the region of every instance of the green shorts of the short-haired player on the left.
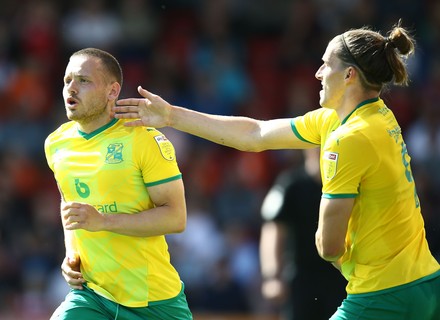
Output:
<instances>
[{"instance_id":1,"label":"green shorts of the short-haired player on the left","mask_svg":"<svg viewBox=\"0 0 440 320\"><path fill-rule=\"evenodd\" d=\"M192 320L184 285L172 299L150 302L148 307L129 308L110 301L93 290L72 289L50 320Z\"/></svg>"}]
</instances>

